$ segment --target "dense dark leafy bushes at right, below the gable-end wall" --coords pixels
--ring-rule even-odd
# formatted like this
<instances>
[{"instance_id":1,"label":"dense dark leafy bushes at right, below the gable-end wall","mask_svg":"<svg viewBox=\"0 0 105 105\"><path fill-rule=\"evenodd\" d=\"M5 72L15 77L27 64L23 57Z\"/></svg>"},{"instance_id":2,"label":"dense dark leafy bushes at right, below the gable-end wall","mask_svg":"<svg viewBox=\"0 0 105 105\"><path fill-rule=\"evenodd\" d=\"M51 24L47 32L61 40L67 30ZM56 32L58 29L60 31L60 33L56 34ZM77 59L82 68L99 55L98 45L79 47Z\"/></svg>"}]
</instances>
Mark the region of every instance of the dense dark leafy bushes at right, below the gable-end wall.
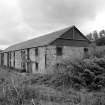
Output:
<instances>
[{"instance_id":1,"label":"dense dark leafy bushes at right, below the gable-end wall","mask_svg":"<svg viewBox=\"0 0 105 105\"><path fill-rule=\"evenodd\" d=\"M64 87L87 88L91 91L105 87L105 58L90 58L84 60L62 62L64 72L55 76L56 84L62 82ZM58 69L58 68L57 68ZM56 69L56 70L57 70ZM60 71L60 70L58 70Z\"/></svg>"}]
</instances>

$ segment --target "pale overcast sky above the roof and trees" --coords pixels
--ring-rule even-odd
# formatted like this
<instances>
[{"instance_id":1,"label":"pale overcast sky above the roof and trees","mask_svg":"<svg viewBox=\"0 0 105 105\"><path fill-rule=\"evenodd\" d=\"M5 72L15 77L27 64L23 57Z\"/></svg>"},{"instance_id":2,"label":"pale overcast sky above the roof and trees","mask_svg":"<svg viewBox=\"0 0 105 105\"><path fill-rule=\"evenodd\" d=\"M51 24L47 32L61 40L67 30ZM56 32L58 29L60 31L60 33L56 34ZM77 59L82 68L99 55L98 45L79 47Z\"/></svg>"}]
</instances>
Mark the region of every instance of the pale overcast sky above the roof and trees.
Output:
<instances>
[{"instance_id":1,"label":"pale overcast sky above the roof and trees","mask_svg":"<svg viewBox=\"0 0 105 105\"><path fill-rule=\"evenodd\" d=\"M105 0L0 0L0 48L67 26L105 29Z\"/></svg>"}]
</instances>

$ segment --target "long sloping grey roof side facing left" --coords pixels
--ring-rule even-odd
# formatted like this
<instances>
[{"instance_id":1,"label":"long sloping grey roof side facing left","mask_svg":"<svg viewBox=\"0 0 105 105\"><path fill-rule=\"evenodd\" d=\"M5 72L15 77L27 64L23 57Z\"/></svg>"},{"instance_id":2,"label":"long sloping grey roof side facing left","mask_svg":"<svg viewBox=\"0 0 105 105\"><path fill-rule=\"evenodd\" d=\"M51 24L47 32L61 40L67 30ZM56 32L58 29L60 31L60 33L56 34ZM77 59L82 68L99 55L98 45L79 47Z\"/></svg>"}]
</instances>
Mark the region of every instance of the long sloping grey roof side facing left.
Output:
<instances>
[{"instance_id":1,"label":"long sloping grey roof side facing left","mask_svg":"<svg viewBox=\"0 0 105 105\"><path fill-rule=\"evenodd\" d=\"M67 28L61 29L59 31L49 33L47 35L43 35L43 36L28 40L28 41L24 41L19 44L12 45L12 46L8 47L7 49L5 49L4 52L49 45L52 41L59 38L66 31L70 30L73 27L75 27L75 26L67 27Z\"/></svg>"}]
</instances>

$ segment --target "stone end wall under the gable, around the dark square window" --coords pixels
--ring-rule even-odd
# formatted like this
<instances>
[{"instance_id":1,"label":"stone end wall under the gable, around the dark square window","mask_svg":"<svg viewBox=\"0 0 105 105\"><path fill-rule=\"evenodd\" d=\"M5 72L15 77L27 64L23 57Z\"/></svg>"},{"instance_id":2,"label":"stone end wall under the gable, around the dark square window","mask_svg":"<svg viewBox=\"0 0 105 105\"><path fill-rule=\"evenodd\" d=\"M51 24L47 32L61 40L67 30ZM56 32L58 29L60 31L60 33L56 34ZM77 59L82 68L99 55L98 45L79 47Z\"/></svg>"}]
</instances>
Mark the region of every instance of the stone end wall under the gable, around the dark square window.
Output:
<instances>
[{"instance_id":1,"label":"stone end wall under the gable, around the dark square window","mask_svg":"<svg viewBox=\"0 0 105 105\"><path fill-rule=\"evenodd\" d=\"M56 46L48 46L46 49L46 66L47 70L50 70L56 63L61 62L64 59L80 59L84 56L84 47L62 47L62 56L56 55ZM47 71L48 72L48 71Z\"/></svg>"}]
</instances>

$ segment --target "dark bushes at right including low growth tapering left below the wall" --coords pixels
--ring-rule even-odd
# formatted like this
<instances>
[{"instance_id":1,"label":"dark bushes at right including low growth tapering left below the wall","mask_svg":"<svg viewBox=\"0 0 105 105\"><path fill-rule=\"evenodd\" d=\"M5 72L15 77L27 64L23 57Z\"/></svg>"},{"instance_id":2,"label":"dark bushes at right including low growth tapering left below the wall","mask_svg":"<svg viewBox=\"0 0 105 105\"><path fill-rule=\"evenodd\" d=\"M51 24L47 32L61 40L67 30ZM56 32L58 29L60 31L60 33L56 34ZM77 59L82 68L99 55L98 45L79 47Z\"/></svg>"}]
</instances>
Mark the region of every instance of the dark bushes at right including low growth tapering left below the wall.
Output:
<instances>
[{"instance_id":1,"label":"dark bushes at right including low growth tapering left below the wall","mask_svg":"<svg viewBox=\"0 0 105 105\"><path fill-rule=\"evenodd\" d=\"M105 87L105 58L65 60L53 68L52 74L39 75L32 78L31 84L41 84L56 89L75 88L89 91L101 90Z\"/></svg>"}]
</instances>

